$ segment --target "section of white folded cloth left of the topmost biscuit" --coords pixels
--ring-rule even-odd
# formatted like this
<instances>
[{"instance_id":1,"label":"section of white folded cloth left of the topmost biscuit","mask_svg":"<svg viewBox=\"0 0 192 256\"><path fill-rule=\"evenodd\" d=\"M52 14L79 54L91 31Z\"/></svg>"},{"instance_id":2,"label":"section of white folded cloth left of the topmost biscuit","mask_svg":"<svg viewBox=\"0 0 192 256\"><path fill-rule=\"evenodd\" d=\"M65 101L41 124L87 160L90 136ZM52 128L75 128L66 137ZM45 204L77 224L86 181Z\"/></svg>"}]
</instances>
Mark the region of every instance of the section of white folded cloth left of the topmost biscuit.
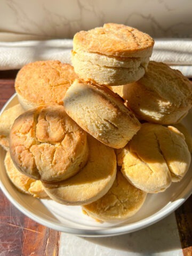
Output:
<instances>
[{"instance_id":1,"label":"section of white folded cloth left of the topmost biscuit","mask_svg":"<svg viewBox=\"0 0 192 256\"><path fill-rule=\"evenodd\" d=\"M72 39L0 42L0 70L20 69L37 60L60 60L71 63Z\"/></svg>"}]
</instances>

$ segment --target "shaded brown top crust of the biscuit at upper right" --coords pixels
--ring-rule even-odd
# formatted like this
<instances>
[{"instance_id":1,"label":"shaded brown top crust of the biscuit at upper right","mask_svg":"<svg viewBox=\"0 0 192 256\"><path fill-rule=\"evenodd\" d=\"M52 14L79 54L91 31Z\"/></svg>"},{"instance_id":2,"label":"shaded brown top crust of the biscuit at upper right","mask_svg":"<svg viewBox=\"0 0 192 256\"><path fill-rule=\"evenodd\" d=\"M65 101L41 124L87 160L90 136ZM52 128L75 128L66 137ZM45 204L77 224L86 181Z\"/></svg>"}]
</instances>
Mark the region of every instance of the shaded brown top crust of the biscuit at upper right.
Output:
<instances>
[{"instance_id":1,"label":"shaded brown top crust of the biscuit at upper right","mask_svg":"<svg viewBox=\"0 0 192 256\"><path fill-rule=\"evenodd\" d=\"M135 83L170 101L173 109L190 109L192 105L192 84L189 79L165 63L149 61L145 75Z\"/></svg>"}]
</instances>

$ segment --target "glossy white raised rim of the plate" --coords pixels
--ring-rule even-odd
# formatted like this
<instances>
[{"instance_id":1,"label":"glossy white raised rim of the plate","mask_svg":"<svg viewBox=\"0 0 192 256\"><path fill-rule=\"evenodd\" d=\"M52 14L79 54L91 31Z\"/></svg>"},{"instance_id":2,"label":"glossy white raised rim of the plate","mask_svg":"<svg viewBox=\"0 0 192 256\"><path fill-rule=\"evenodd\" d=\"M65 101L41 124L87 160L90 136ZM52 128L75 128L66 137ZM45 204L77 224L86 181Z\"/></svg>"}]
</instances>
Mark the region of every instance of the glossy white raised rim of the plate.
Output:
<instances>
[{"instance_id":1,"label":"glossy white raised rim of the plate","mask_svg":"<svg viewBox=\"0 0 192 256\"><path fill-rule=\"evenodd\" d=\"M14 93L9 100L6 101L5 105L0 111L0 115L5 111L5 108L9 105L9 103L17 97L17 93ZM12 197L9 193L9 191L6 189L4 186L4 183L2 180L0 180L0 188L2 189L3 193L5 196L9 199L9 201L23 214L27 215L28 218L38 222L39 224L46 226L48 228L65 232L68 234L73 234L77 236L84 236L84 237L104 237L104 236L117 236L117 235L123 235L127 233L131 233L143 228L146 228L150 225L153 225L154 223L162 220L165 218L167 215L171 214L173 211L178 209L178 207L183 204L189 196L192 194L192 189L190 190L189 185L182 190L181 195L183 195L182 198L177 198L173 202L169 202L165 206L167 206L165 209L160 209L158 212L154 213L153 215L150 215L149 217L142 219L140 221L137 221L135 223L128 223L124 226L120 227L105 227L102 229L93 229L93 230L88 230L88 229L83 229L83 228L72 228L72 227L66 227L62 226L59 223L55 223L50 220L46 220L43 217L39 217L37 214L32 213L30 210L27 210L25 206L21 205L19 202L17 202L14 197ZM186 191L187 190L187 191ZM186 193L185 193L186 191Z\"/></svg>"}]
</instances>

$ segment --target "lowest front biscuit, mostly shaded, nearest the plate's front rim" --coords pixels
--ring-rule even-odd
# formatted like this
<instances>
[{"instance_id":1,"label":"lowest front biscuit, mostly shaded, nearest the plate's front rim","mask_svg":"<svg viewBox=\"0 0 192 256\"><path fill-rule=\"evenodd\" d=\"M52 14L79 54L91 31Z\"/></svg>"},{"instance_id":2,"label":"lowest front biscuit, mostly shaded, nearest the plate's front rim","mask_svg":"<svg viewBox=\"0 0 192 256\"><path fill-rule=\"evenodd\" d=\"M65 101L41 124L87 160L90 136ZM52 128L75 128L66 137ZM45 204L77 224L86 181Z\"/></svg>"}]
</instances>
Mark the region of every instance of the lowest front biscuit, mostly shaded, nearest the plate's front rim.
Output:
<instances>
[{"instance_id":1,"label":"lowest front biscuit, mostly shaded, nearest the plate's front rim","mask_svg":"<svg viewBox=\"0 0 192 256\"><path fill-rule=\"evenodd\" d=\"M82 206L83 212L100 221L127 219L137 213L145 202L147 193L135 188L120 171L113 186L97 201Z\"/></svg>"}]
</instances>

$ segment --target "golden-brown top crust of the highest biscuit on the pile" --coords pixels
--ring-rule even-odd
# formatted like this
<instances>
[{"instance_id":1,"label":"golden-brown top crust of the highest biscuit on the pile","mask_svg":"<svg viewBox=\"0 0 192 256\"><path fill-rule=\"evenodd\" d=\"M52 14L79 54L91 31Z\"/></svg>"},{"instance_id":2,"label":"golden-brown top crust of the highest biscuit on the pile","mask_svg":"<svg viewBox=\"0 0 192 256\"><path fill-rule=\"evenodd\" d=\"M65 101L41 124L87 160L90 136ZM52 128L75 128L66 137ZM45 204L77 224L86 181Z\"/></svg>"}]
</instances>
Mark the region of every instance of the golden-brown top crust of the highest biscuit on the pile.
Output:
<instances>
[{"instance_id":1,"label":"golden-brown top crust of the highest biscuit on the pile","mask_svg":"<svg viewBox=\"0 0 192 256\"><path fill-rule=\"evenodd\" d=\"M80 31L74 36L74 51L121 57L150 56L154 40L138 29L107 23L103 27Z\"/></svg>"}]
</instances>

